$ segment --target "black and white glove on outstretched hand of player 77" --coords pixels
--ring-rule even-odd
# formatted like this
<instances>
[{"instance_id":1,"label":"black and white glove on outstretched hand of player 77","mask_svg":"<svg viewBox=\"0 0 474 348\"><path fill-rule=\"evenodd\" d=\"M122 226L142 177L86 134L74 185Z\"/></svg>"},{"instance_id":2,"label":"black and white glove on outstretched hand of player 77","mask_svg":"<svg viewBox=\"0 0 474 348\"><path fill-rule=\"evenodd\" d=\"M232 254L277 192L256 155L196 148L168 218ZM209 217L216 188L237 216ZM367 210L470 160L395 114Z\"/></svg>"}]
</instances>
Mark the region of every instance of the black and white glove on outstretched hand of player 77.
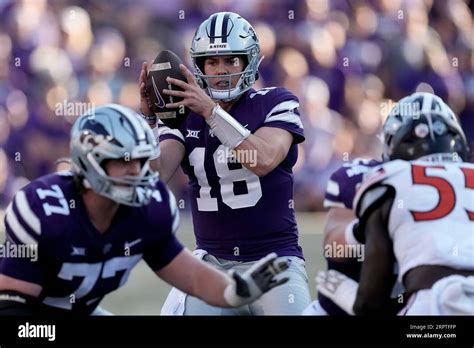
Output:
<instances>
[{"instance_id":1,"label":"black and white glove on outstretched hand of player 77","mask_svg":"<svg viewBox=\"0 0 474 348\"><path fill-rule=\"evenodd\" d=\"M287 277L277 280L275 276L288 267L287 260L277 260L277 254L271 253L257 261L243 274L231 270L229 275L234 281L226 287L224 298L232 307L251 303L270 289L286 283Z\"/></svg>"}]
</instances>

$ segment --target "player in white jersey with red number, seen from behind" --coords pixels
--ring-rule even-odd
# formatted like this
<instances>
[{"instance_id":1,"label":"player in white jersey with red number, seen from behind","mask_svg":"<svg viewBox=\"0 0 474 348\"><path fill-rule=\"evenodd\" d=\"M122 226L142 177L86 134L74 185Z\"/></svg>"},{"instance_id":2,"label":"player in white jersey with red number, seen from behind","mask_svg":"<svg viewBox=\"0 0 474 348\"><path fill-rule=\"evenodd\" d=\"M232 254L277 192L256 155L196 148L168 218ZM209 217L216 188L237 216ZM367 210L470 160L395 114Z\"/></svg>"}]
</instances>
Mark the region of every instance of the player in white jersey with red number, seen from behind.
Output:
<instances>
[{"instance_id":1,"label":"player in white jersey with red number, seen from behind","mask_svg":"<svg viewBox=\"0 0 474 348\"><path fill-rule=\"evenodd\" d=\"M359 286L337 271L319 276L318 289L349 312L390 314L396 263L408 295L400 314L474 314L474 165L463 162L469 149L456 117L433 100L429 110L413 96L395 106L385 124L391 162L354 199L366 247Z\"/></svg>"}]
</instances>

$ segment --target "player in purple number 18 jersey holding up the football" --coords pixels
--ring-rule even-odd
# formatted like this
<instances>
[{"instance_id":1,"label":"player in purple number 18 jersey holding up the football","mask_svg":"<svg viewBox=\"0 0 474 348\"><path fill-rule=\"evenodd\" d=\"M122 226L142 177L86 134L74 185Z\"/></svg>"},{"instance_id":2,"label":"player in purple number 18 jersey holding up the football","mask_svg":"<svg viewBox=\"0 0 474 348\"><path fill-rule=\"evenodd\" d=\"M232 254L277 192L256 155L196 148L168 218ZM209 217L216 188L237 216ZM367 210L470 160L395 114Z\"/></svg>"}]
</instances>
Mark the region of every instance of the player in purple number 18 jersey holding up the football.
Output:
<instances>
[{"instance_id":1,"label":"player in purple number 18 jersey holding up the football","mask_svg":"<svg viewBox=\"0 0 474 348\"><path fill-rule=\"evenodd\" d=\"M141 111L159 137L160 173L166 182L181 164L189 193L197 250L220 269L249 269L269 252L290 261L289 281L237 310L209 306L173 289L163 314L300 314L310 294L293 209L292 167L304 140L298 98L285 88L254 90L263 59L252 26L220 12L197 29L191 47L195 75L181 65L183 97L190 114L178 129L156 126L141 77Z\"/></svg>"}]
</instances>

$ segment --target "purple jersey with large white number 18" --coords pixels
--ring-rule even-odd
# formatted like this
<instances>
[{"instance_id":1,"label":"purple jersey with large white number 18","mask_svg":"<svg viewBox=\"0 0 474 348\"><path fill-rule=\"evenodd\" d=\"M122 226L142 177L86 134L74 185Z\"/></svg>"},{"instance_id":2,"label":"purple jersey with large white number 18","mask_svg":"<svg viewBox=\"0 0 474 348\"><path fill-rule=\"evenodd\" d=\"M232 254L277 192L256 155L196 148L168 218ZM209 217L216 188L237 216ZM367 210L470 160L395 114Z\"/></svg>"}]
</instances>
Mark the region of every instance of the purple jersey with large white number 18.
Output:
<instances>
[{"instance_id":1,"label":"purple jersey with large white number 18","mask_svg":"<svg viewBox=\"0 0 474 348\"><path fill-rule=\"evenodd\" d=\"M286 158L264 177L229 157L200 115L190 113L179 129L160 125L160 141L175 139L186 148L181 165L189 177L198 248L239 261L269 252L303 257L293 209L292 167L304 141L298 106L285 88L263 88L247 91L229 110L252 133L275 127L293 135Z\"/></svg>"}]
</instances>

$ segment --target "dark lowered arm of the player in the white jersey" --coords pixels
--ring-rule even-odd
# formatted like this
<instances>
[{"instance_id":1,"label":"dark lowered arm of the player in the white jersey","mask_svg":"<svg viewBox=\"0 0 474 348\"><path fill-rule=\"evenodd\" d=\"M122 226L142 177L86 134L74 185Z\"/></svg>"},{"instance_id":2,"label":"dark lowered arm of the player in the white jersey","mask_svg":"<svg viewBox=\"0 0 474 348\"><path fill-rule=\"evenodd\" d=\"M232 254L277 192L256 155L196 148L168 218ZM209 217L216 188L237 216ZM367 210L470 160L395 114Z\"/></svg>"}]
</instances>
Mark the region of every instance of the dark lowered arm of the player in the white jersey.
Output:
<instances>
[{"instance_id":1,"label":"dark lowered arm of the player in the white jersey","mask_svg":"<svg viewBox=\"0 0 474 348\"><path fill-rule=\"evenodd\" d=\"M354 304L356 315L393 315L390 294L396 278L393 274L395 255L388 234L388 216L393 196L388 197L366 216L365 260Z\"/></svg>"}]
</instances>

